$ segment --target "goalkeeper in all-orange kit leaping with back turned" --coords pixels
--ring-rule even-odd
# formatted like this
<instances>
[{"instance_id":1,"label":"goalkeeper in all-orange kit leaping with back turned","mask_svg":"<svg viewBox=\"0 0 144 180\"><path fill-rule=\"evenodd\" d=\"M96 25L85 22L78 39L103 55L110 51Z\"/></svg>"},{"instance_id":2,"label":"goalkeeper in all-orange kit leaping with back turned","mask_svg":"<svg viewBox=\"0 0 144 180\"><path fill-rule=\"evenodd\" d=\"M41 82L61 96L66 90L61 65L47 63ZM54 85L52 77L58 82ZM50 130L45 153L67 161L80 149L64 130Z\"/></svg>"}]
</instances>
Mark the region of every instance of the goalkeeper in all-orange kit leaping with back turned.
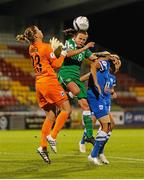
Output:
<instances>
[{"instance_id":1,"label":"goalkeeper in all-orange kit leaping with back turned","mask_svg":"<svg viewBox=\"0 0 144 180\"><path fill-rule=\"evenodd\" d=\"M43 42L43 33L37 26L28 27L24 34L17 35L16 39L30 43L29 55L36 76L36 96L39 106L46 113L46 119L42 126L40 147L37 152L45 162L50 163L47 141L56 153L56 137L71 112L68 97L58 82L55 73L55 69L61 67L66 51L62 50L60 57L56 58L51 45ZM57 117L55 116L56 107L61 110ZM51 132L55 118L56 122Z\"/></svg>"}]
</instances>

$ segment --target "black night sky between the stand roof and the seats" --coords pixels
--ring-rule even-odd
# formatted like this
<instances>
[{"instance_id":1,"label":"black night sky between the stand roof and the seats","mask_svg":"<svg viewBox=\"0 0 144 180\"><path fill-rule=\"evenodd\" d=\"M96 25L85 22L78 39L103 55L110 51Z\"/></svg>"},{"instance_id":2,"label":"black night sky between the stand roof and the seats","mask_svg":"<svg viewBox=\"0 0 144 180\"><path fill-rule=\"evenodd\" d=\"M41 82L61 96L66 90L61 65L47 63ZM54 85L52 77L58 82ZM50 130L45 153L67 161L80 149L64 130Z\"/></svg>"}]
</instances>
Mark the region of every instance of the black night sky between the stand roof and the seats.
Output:
<instances>
[{"instance_id":1,"label":"black night sky between the stand roof and the seats","mask_svg":"<svg viewBox=\"0 0 144 180\"><path fill-rule=\"evenodd\" d=\"M87 17L91 40L144 67L144 1L92 13ZM72 26L71 22L72 19L66 25Z\"/></svg>"}]
</instances>

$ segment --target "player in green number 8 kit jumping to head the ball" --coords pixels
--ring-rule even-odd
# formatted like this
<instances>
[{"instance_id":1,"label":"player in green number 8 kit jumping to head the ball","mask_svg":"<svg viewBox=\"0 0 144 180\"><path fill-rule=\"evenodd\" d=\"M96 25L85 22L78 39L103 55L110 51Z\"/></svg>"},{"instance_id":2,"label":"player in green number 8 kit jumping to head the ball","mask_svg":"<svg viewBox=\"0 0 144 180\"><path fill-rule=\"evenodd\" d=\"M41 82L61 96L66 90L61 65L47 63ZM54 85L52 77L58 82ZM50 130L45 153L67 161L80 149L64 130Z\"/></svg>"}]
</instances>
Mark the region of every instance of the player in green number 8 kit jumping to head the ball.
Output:
<instances>
[{"instance_id":1,"label":"player in green number 8 kit jumping to head the ball","mask_svg":"<svg viewBox=\"0 0 144 180\"><path fill-rule=\"evenodd\" d=\"M89 50L94 47L94 42L86 44L88 33L86 31L78 31L74 36L66 41L67 57L59 71L59 81L77 95L78 104L83 110L83 121L86 128L86 142L94 144L93 128L91 120L91 112L87 102L86 88L83 82L80 81L80 67L85 59L95 60L97 57ZM86 45L85 45L86 44Z\"/></svg>"}]
</instances>

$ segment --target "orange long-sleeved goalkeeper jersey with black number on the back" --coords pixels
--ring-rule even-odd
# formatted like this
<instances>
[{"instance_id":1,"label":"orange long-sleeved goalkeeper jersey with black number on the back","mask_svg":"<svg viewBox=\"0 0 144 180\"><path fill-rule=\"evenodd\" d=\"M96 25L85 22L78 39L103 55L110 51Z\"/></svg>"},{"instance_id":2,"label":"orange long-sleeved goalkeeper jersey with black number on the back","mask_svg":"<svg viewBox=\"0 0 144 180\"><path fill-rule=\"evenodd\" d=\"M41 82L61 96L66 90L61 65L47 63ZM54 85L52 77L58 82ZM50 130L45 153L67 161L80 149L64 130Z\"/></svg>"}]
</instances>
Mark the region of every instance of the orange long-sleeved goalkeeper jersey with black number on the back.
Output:
<instances>
[{"instance_id":1,"label":"orange long-sleeved goalkeeper jersey with black number on the back","mask_svg":"<svg viewBox=\"0 0 144 180\"><path fill-rule=\"evenodd\" d=\"M31 44L29 46L29 54L32 60L36 80L43 77L47 77L48 79L57 78L54 69L61 67L64 56L60 56L57 59L50 44L43 42Z\"/></svg>"}]
</instances>

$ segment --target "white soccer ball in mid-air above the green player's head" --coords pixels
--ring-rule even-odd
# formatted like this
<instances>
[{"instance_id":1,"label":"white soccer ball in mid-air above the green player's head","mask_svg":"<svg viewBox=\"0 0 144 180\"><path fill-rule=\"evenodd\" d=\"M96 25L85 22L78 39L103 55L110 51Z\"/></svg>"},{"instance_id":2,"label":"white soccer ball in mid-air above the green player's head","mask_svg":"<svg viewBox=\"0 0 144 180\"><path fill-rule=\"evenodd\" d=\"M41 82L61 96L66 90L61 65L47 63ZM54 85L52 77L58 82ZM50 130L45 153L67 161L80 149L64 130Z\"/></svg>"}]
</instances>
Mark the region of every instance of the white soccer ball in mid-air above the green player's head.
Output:
<instances>
[{"instance_id":1,"label":"white soccer ball in mid-air above the green player's head","mask_svg":"<svg viewBox=\"0 0 144 180\"><path fill-rule=\"evenodd\" d=\"M73 20L73 27L76 31L84 30L87 31L89 28L89 20L85 16L76 17Z\"/></svg>"}]
</instances>

